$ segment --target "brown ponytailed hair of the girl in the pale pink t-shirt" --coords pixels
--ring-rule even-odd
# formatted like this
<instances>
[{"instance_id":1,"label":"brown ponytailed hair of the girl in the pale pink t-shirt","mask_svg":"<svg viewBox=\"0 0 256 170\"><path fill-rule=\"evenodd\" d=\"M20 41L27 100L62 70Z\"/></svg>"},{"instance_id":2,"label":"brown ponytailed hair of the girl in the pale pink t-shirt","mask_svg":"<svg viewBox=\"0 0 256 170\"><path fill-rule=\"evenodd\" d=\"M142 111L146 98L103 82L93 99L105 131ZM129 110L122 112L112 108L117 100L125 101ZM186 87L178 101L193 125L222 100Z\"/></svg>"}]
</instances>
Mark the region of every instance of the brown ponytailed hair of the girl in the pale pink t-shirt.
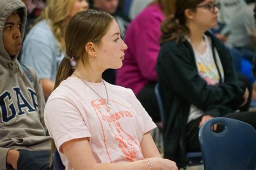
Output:
<instances>
[{"instance_id":1,"label":"brown ponytailed hair of the girl in the pale pink t-shirt","mask_svg":"<svg viewBox=\"0 0 256 170\"><path fill-rule=\"evenodd\" d=\"M88 42L100 45L100 40L107 33L114 18L106 12L98 10L87 10L76 13L66 27L65 45L66 54L73 56L76 61L82 60L84 66L87 65L87 53L85 45ZM73 73L70 60L64 58L57 70L55 87L71 76ZM51 152L56 146L52 140ZM50 159L52 164L52 158Z\"/></svg>"}]
</instances>

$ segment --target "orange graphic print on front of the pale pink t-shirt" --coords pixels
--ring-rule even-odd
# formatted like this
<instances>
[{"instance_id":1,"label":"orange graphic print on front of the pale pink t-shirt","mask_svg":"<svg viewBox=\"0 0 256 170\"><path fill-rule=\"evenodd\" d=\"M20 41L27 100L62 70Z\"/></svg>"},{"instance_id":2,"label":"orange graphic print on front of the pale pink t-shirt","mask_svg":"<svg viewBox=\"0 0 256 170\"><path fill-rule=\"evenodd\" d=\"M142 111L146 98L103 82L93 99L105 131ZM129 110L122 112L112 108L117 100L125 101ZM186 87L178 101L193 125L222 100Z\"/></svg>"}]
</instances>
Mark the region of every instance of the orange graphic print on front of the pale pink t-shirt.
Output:
<instances>
[{"instance_id":1,"label":"orange graphic print on front of the pale pink t-shirt","mask_svg":"<svg viewBox=\"0 0 256 170\"><path fill-rule=\"evenodd\" d=\"M132 115L130 111L118 111L114 112L114 114L111 114L110 108L107 106L107 103L104 99L92 101L91 105L95 109L98 119L100 121L105 150L107 152L110 162L112 162L112 159L110 157L109 148L106 141L107 129L103 128L103 123L105 122L107 122L108 127L113 134L113 138L118 143L118 147L124 154L126 160L137 161L140 159L144 159L138 141L134 140L134 138L122 128L122 125L119 122L119 119L133 118L134 115Z\"/></svg>"}]
</instances>

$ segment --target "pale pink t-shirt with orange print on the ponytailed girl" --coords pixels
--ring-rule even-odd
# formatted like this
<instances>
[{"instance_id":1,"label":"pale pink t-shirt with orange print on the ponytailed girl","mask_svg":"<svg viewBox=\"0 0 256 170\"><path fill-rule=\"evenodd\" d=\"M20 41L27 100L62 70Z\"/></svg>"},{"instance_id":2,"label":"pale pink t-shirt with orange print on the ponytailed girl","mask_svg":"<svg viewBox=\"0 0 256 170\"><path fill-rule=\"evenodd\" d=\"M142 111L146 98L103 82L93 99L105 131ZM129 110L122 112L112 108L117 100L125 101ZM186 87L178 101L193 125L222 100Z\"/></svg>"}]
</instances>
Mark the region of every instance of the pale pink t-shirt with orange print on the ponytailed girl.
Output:
<instances>
[{"instance_id":1,"label":"pale pink t-shirt with orange print on the ponytailed girl","mask_svg":"<svg viewBox=\"0 0 256 170\"><path fill-rule=\"evenodd\" d=\"M130 162L144 159L140 148L143 134L156 128L131 89L86 82L68 77L53 91L45 105L44 119L58 148L71 139L89 137L98 163ZM72 169L60 153L66 169Z\"/></svg>"}]
</instances>

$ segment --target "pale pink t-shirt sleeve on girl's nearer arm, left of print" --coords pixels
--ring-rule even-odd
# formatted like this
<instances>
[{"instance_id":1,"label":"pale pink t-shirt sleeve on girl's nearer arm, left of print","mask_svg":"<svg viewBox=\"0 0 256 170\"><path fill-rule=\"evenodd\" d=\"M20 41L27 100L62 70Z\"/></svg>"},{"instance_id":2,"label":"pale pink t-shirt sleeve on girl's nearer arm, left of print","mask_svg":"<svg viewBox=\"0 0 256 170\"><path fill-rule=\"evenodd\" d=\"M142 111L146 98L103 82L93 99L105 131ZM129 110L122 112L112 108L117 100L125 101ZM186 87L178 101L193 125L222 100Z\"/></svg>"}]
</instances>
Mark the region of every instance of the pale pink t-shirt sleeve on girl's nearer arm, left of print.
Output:
<instances>
[{"instance_id":1,"label":"pale pink t-shirt sleeve on girl's nearer arm, left of print","mask_svg":"<svg viewBox=\"0 0 256 170\"><path fill-rule=\"evenodd\" d=\"M53 99L46 103L44 119L58 150L66 141L91 137L80 111L70 101Z\"/></svg>"}]
</instances>

